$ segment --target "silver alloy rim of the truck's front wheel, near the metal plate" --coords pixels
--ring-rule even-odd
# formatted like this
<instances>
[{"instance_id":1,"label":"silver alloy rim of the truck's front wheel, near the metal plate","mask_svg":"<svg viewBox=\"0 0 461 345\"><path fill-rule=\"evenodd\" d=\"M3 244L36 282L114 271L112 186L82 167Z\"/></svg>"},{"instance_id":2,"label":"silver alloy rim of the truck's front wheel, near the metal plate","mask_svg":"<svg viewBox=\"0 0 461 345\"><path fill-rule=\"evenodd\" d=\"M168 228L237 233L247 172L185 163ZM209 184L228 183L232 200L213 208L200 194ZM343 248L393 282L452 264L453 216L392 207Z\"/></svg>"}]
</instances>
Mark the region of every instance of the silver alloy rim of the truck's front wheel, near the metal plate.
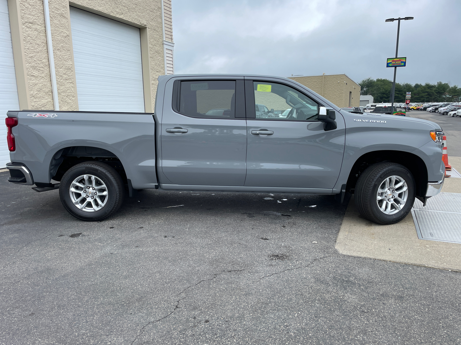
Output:
<instances>
[{"instance_id":1,"label":"silver alloy rim of the truck's front wheel, near the metal plate","mask_svg":"<svg viewBox=\"0 0 461 345\"><path fill-rule=\"evenodd\" d=\"M384 214L395 214L402 210L408 199L408 185L405 179L393 175L379 184L376 203Z\"/></svg>"}]
</instances>

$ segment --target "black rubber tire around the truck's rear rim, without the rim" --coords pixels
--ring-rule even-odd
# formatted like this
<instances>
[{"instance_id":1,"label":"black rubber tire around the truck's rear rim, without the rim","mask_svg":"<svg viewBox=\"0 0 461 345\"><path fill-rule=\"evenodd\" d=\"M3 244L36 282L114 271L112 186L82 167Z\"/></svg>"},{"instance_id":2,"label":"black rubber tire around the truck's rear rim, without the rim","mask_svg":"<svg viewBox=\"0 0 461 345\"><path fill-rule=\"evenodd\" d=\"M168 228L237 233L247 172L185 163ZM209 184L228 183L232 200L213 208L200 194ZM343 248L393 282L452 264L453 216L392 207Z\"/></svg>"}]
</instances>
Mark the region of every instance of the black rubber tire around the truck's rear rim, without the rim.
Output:
<instances>
[{"instance_id":1,"label":"black rubber tire around the truck's rear rim, without the rim","mask_svg":"<svg viewBox=\"0 0 461 345\"><path fill-rule=\"evenodd\" d=\"M98 210L92 212L81 210L79 207L75 206L71 200L71 185L76 178L81 177L82 175L95 176L95 180L96 178L99 179L99 183L103 183L106 186L107 196L101 196L104 189L101 189L102 192L100 192L99 196L99 200L101 200L101 197L104 198L102 199L104 204L98 204L95 200L97 207L101 207L102 205L102 207ZM90 190L89 193L101 190L98 190L96 187L96 190L93 192ZM73 195L78 196L79 194L86 197L86 192L85 194L82 192ZM102 220L117 212L118 208L122 205L124 198L124 184L120 175L111 166L101 162L87 161L77 164L65 172L59 184L59 198L61 199L61 202L67 212L71 213L72 216L87 221ZM82 199L81 202L83 203L84 200L85 199ZM87 205L89 205L89 203L87 203Z\"/></svg>"}]
</instances>

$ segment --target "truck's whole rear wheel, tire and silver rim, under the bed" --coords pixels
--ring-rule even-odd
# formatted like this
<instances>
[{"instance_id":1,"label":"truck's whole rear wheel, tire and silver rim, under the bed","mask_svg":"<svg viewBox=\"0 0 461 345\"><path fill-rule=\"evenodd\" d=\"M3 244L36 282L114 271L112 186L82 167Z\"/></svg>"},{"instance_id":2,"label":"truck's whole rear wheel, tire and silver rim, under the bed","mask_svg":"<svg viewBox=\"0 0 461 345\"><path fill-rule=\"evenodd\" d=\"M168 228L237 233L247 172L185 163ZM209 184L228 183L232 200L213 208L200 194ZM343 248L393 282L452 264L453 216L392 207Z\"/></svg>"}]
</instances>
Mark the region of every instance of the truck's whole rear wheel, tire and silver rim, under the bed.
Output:
<instances>
[{"instance_id":1,"label":"truck's whole rear wheel, tire and silver rim, under the bed","mask_svg":"<svg viewBox=\"0 0 461 345\"><path fill-rule=\"evenodd\" d=\"M124 184L111 166L87 161L71 167L59 184L59 198L72 216L105 219L122 205Z\"/></svg>"}]
</instances>

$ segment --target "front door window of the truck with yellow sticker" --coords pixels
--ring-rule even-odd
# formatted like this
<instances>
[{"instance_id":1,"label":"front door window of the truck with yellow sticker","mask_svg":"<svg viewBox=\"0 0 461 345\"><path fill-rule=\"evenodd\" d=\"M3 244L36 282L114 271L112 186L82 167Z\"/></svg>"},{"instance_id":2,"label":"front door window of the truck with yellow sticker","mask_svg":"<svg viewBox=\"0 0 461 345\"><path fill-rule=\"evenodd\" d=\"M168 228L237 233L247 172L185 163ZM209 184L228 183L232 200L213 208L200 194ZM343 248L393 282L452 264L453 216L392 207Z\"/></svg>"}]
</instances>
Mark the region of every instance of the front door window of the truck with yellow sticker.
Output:
<instances>
[{"instance_id":1,"label":"front door window of the truck with yellow sticker","mask_svg":"<svg viewBox=\"0 0 461 345\"><path fill-rule=\"evenodd\" d=\"M319 105L290 86L254 81L253 89L257 120L317 120Z\"/></svg>"}]
</instances>

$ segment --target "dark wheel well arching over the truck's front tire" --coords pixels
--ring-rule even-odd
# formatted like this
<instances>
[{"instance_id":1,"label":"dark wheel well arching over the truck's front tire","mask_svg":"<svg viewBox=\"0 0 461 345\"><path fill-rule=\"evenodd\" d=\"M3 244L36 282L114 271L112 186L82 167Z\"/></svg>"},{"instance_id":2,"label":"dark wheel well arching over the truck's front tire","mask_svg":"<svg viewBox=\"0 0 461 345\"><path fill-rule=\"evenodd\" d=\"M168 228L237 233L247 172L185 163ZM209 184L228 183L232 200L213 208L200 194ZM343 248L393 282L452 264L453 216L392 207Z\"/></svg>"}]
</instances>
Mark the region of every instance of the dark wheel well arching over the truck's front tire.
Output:
<instances>
[{"instance_id":1,"label":"dark wheel well arching over the truck's front tire","mask_svg":"<svg viewBox=\"0 0 461 345\"><path fill-rule=\"evenodd\" d=\"M363 173L367 167L379 162L393 162L402 164L412 173L414 177L416 184L416 195L426 195L427 167L424 161L412 153L392 150L368 152L365 155L362 155L357 161L355 161L354 166L349 173L346 190L348 190L350 193L353 193L355 190L355 184L357 183L361 173Z\"/></svg>"}]
</instances>

